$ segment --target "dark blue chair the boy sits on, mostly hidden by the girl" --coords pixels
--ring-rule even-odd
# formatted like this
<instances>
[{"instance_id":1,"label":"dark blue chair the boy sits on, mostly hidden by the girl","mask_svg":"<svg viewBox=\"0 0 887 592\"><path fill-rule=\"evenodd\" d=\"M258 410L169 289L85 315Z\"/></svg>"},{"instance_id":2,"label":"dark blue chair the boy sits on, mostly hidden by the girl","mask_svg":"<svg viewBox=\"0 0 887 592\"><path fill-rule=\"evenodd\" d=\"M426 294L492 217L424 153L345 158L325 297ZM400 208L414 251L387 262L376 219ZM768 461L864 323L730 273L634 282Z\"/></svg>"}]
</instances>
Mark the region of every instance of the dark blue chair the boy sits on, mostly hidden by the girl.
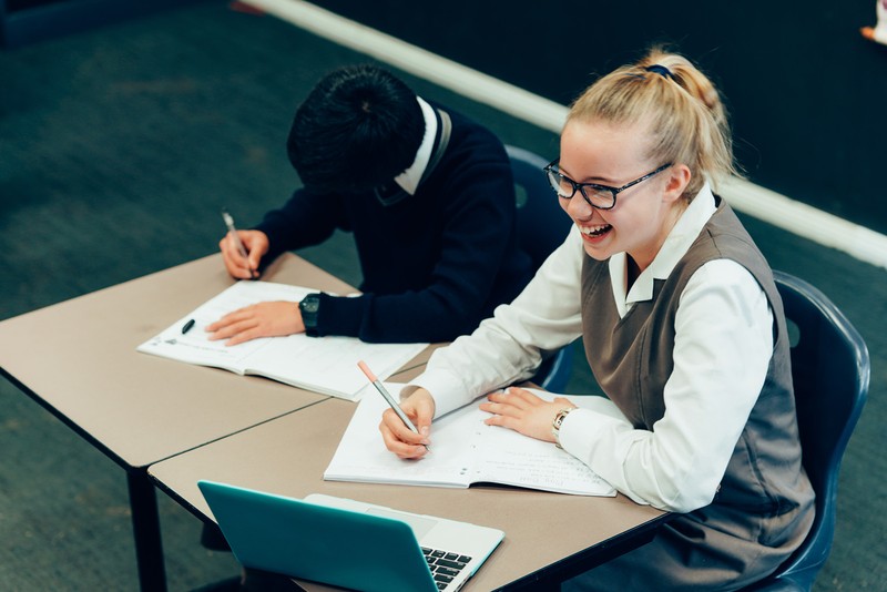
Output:
<instances>
[{"instance_id":1,"label":"dark blue chair the boy sits on, mostly hidden by the girl","mask_svg":"<svg viewBox=\"0 0 887 592\"><path fill-rule=\"evenodd\" d=\"M561 210L542 169L548 162L528 150L506 146L518 194L518 243L538 269L570 232L569 216ZM542 361L530 380L552 392L563 392L572 371L572 346L567 345Z\"/></svg>"}]
</instances>

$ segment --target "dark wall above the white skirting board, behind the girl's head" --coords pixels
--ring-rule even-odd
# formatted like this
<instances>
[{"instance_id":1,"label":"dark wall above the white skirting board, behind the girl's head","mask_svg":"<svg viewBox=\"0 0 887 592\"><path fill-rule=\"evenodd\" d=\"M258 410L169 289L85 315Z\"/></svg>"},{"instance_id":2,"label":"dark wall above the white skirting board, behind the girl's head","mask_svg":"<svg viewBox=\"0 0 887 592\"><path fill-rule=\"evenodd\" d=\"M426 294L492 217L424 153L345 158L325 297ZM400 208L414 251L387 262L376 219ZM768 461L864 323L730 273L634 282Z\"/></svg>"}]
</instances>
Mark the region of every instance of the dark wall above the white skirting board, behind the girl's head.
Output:
<instances>
[{"instance_id":1,"label":"dark wall above the white skirting board, behind the girl's head","mask_svg":"<svg viewBox=\"0 0 887 592\"><path fill-rule=\"evenodd\" d=\"M314 1L564 104L672 43L726 96L751 181L887 232L887 47L859 34L875 0Z\"/></svg>"}]
</instances>

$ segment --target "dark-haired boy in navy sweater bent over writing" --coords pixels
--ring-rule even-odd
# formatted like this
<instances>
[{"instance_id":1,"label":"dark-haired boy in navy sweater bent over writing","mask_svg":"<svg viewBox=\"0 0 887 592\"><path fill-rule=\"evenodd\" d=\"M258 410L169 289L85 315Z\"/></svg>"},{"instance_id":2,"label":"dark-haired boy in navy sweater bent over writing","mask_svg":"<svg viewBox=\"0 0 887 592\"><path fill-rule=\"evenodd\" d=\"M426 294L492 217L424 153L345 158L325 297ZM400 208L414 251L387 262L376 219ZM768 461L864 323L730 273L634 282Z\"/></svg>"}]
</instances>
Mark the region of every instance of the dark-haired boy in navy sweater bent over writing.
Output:
<instances>
[{"instance_id":1,"label":"dark-haired boy in navy sweater bent over writing","mask_svg":"<svg viewBox=\"0 0 887 592\"><path fill-rule=\"evenodd\" d=\"M312 294L226 315L208 327L236 344L275 335L445 341L470 333L529 280L516 235L511 170L488 130L417 96L376 65L325 76L298 108L287 151L304 187L255 228L220 242L232 276L351 232L361 295ZM541 174L541 173L540 173Z\"/></svg>"}]
</instances>

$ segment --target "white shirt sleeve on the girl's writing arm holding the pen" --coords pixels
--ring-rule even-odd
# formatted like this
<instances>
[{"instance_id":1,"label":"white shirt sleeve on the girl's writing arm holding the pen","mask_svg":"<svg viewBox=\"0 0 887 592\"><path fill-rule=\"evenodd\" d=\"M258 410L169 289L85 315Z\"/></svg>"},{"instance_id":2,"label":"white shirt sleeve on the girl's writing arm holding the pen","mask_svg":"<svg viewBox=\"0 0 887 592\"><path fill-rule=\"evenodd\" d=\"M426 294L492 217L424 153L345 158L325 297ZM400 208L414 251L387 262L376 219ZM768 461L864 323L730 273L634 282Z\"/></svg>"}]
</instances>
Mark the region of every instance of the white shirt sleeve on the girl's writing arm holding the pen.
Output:
<instances>
[{"instance_id":1,"label":"white shirt sleeve on the girl's writing arm holding the pen","mask_svg":"<svg viewBox=\"0 0 887 592\"><path fill-rule=\"evenodd\" d=\"M401 398L422 387L434 396L435 417L440 417L530 378L542 353L555 351L579 337L581 241L573 226L523 292L510 305L499 306L475 333L435 351L426 371L401 391Z\"/></svg>"}]
</instances>

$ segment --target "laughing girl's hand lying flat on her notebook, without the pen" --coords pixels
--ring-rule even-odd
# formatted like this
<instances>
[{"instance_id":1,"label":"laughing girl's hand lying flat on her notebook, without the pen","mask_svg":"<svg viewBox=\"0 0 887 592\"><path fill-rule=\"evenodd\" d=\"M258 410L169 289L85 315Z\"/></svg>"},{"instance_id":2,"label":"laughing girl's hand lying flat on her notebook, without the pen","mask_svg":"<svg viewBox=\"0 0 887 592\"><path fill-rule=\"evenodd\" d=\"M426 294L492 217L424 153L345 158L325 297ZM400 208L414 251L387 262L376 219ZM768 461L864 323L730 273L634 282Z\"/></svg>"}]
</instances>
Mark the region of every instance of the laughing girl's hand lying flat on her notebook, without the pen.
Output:
<instances>
[{"instance_id":1,"label":"laughing girl's hand lying flat on her notebook, without the pen","mask_svg":"<svg viewBox=\"0 0 887 592\"><path fill-rule=\"evenodd\" d=\"M563 397L547 401L519 387L492 392L487 397L487 401L480 405L480 409L492 414L492 417L487 418L485 423L510 428L546 442L554 441L554 436L551 433L554 416L562 409L575 407Z\"/></svg>"}]
</instances>

